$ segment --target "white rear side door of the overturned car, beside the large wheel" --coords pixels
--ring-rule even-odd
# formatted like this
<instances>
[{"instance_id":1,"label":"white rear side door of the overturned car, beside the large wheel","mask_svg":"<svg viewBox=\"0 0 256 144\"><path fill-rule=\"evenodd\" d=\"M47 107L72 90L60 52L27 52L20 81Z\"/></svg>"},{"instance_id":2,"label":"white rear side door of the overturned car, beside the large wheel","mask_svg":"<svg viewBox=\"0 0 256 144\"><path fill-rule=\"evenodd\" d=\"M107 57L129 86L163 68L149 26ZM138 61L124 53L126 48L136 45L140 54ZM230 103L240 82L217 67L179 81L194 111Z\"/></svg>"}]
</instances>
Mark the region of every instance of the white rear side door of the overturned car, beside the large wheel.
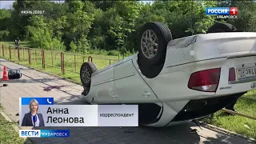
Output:
<instances>
[{"instance_id":1,"label":"white rear side door of the overturned car, beside the large wheel","mask_svg":"<svg viewBox=\"0 0 256 144\"><path fill-rule=\"evenodd\" d=\"M114 86L121 103L159 102L131 59L114 66Z\"/></svg>"}]
</instances>

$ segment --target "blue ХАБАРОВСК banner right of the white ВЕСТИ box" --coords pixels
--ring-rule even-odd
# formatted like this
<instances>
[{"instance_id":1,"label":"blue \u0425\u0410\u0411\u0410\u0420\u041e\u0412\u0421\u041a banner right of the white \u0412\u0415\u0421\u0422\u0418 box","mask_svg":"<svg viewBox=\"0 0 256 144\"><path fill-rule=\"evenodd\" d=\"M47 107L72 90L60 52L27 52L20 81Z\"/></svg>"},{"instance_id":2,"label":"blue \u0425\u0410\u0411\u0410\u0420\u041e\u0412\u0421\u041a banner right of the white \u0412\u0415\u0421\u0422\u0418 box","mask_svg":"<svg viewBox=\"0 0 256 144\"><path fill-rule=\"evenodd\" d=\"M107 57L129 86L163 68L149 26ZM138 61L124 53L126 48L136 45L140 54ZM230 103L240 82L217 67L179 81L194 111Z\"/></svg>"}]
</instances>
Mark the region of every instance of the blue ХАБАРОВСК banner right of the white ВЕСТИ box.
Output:
<instances>
[{"instance_id":1,"label":"blue \u0425\u0410\u0411\u0410\u0420\u041e\u0412\u0421\u041a banner right of the white \u0412\u0415\u0421\u0422\u0418 box","mask_svg":"<svg viewBox=\"0 0 256 144\"><path fill-rule=\"evenodd\" d=\"M69 138L70 130L40 130L40 138Z\"/></svg>"}]
</instances>

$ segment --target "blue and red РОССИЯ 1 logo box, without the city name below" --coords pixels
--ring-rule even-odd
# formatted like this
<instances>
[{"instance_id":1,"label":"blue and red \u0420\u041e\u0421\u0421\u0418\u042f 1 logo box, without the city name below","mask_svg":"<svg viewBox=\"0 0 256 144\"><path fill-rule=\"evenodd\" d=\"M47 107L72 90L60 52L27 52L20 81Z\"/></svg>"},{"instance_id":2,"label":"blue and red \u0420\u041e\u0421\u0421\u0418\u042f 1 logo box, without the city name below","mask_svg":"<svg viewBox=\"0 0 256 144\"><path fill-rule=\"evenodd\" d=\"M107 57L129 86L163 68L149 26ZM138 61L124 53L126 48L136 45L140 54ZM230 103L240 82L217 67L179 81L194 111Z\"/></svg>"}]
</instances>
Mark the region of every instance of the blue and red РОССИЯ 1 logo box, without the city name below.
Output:
<instances>
[{"instance_id":1,"label":"blue and red \u0420\u041e\u0421\u0421\u0418\u042f 1 logo box, without the city name below","mask_svg":"<svg viewBox=\"0 0 256 144\"><path fill-rule=\"evenodd\" d=\"M207 15L238 15L238 7L206 7Z\"/></svg>"}]
</instances>

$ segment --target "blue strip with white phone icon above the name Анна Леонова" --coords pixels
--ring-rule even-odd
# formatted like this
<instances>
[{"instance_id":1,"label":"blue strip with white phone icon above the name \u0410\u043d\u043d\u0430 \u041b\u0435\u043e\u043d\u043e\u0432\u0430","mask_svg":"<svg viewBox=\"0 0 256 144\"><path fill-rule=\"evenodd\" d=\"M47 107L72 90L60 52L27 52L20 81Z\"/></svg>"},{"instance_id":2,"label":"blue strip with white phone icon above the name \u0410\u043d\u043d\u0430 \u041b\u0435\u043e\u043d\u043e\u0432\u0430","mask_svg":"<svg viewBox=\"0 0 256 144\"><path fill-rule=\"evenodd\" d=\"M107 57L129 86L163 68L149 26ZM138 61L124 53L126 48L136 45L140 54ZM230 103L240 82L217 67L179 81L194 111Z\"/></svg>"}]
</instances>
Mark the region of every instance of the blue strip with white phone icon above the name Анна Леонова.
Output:
<instances>
[{"instance_id":1,"label":"blue strip with white phone icon above the name \u0410\u043d\u043d\u0430 \u041b\u0435\u043e\u043d\u043e\u0432\u0430","mask_svg":"<svg viewBox=\"0 0 256 144\"><path fill-rule=\"evenodd\" d=\"M54 105L54 98L22 98L22 105L30 105L30 101L36 99L38 105Z\"/></svg>"}]
</instances>

